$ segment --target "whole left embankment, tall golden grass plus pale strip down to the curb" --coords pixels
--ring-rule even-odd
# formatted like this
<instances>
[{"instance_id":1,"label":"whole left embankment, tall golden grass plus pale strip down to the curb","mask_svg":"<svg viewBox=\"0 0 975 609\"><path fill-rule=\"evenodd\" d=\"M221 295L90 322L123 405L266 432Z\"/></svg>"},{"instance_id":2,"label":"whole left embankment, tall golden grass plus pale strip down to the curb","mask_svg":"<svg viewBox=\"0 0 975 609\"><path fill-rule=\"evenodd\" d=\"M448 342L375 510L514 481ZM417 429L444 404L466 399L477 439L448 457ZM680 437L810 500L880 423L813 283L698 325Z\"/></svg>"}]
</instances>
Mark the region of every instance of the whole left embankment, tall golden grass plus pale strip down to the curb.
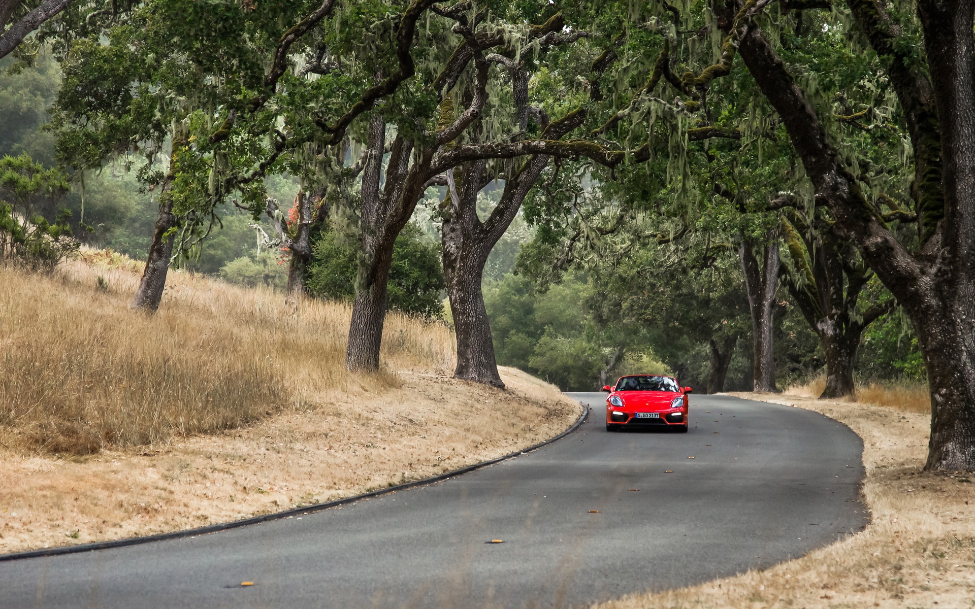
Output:
<instances>
[{"instance_id":1,"label":"whole left embankment, tall golden grass plus pale strip down to the curb","mask_svg":"<svg viewBox=\"0 0 975 609\"><path fill-rule=\"evenodd\" d=\"M343 304L172 273L148 316L129 309L140 265L86 258L53 276L0 268L0 553L350 496L580 413L518 370L502 370L509 391L453 380L443 324L388 316L384 370L350 374Z\"/></svg>"}]
</instances>

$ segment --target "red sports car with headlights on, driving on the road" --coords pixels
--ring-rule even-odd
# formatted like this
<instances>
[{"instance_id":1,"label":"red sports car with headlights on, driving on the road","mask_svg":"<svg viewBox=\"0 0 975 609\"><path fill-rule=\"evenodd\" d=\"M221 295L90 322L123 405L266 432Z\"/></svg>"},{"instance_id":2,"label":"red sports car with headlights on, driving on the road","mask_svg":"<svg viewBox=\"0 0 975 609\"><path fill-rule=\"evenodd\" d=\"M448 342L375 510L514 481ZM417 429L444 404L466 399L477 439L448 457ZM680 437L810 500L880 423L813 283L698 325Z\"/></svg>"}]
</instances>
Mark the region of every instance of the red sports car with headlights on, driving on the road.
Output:
<instances>
[{"instance_id":1,"label":"red sports car with headlights on, driving on the road","mask_svg":"<svg viewBox=\"0 0 975 609\"><path fill-rule=\"evenodd\" d=\"M606 385L606 431L624 427L673 427L687 431L687 394L670 376L634 374L621 376L616 386Z\"/></svg>"}]
</instances>

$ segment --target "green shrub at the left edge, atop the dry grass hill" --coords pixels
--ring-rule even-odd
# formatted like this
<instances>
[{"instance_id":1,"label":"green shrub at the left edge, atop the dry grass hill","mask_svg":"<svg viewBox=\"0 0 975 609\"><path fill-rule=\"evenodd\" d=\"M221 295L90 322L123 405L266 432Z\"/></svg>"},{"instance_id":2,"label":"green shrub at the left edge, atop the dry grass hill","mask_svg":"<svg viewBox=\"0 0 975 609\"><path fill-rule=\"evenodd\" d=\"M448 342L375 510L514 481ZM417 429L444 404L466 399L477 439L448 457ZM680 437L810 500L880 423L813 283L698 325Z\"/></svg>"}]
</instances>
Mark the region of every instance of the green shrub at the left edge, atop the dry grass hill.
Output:
<instances>
[{"instance_id":1,"label":"green shrub at the left edge, atop the dry grass hill","mask_svg":"<svg viewBox=\"0 0 975 609\"><path fill-rule=\"evenodd\" d=\"M78 248L70 212L55 206L67 190L59 170L25 154L0 159L0 256L31 269L53 269Z\"/></svg>"}]
</instances>

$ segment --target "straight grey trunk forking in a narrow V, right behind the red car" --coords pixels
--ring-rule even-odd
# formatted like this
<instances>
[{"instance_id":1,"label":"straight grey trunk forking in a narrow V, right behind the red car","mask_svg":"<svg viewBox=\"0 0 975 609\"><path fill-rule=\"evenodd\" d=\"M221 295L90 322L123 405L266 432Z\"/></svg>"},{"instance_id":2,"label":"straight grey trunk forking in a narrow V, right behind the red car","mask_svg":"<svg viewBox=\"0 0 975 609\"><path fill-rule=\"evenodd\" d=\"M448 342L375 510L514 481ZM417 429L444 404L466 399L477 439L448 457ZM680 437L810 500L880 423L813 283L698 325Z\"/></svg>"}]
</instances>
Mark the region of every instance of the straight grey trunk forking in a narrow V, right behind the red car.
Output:
<instances>
[{"instance_id":1,"label":"straight grey trunk forking in a narrow V, right behind the red car","mask_svg":"<svg viewBox=\"0 0 975 609\"><path fill-rule=\"evenodd\" d=\"M741 268L745 274L745 291L752 314L752 340L755 347L754 390L761 393L778 391L775 387L775 292L778 287L779 244L771 241L763 247L762 264L752 248L738 247Z\"/></svg>"}]
</instances>

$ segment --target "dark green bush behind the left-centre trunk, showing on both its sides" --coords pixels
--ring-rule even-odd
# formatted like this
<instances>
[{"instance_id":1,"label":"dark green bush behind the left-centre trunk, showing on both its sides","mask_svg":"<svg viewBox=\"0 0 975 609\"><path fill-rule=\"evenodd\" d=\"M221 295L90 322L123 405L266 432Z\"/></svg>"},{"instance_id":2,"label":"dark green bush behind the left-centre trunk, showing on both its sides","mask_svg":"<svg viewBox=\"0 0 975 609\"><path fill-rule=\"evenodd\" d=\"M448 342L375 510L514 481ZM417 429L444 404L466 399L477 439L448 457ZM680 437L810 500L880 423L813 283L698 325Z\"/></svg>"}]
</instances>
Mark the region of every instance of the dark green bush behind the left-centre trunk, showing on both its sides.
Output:
<instances>
[{"instance_id":1,"label":"dark green bush behind the left-centre trunk, showing on both its sides","mask_svg":"<svg viewBox=\"0 0 975 609\"><path fill-rule=\"evenodd\" d=\"M359 255L356 246L350 236L327 224L312 245L308 293L320 298L354 298ZM404 313L438 317L445 287L440 248L425 242L418 226L408 224L393 247L388 306Z\"/></svg>"}]
</instances>

